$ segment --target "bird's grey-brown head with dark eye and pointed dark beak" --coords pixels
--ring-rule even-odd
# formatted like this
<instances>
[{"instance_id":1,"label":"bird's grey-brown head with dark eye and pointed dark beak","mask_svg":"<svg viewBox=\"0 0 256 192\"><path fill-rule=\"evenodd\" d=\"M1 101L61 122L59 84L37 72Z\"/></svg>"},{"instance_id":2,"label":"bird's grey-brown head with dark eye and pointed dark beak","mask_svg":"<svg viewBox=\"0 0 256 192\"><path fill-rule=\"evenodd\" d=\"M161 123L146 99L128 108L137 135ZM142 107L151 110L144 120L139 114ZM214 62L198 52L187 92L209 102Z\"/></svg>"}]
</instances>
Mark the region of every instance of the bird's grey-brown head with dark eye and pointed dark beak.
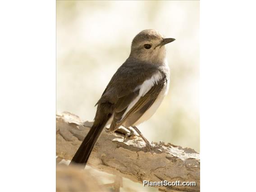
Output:
<instances>
[{"instance_id":1,"label":"bird's grey-brown head with dark eye and pointed dark beak","mask_svg":"<svg viewBox=\"0 0 256 192\"><path fill-rule=\"evenodd\" d=\"M162 63L165 60L165 44L174 41L164 38L154 29L138 33L132 42L130 57L149 63Z\"/></svg>"}]
</instances>

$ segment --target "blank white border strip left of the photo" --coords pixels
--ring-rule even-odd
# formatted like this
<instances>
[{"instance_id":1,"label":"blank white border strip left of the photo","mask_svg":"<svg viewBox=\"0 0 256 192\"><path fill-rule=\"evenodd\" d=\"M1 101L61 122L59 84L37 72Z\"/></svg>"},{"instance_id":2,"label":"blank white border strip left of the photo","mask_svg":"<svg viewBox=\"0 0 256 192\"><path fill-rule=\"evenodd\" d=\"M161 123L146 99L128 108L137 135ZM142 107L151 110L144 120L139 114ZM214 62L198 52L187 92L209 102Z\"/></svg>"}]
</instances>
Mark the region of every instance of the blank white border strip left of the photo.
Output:
<instances>
[{"instance_id":1,"label":"blank white border strip left of the photo","mask_svg":"<svg viewBox=\"0 0 256 192\"><path fill-rule=\"evenodd\" d=\"M1 191L55 191L55 1L1 1Z\"/></svg>"}]
</instances>

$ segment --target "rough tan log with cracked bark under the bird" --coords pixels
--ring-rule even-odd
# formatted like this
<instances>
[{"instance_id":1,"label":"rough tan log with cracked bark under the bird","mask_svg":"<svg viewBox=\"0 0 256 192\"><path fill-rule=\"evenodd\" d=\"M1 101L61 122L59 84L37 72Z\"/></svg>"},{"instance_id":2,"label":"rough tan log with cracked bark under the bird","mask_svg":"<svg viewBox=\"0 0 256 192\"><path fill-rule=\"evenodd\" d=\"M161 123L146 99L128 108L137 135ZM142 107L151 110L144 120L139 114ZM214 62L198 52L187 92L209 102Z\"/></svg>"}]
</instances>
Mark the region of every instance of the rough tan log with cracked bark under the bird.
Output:
<instances>
[{"instance_id":1,"label":"rough tan log with cracked bark under the bird","mask_svg":"<svg viewBox=\"0 0 256 192\"><path fill-rule=\"evenodd\" d=\"M90 129L91 122L64 112L56 115L56 155L58 160L71 160ZM123 139L126 130L117 133L104 131L94 147L87 165L106 173L129 178L160 182L196 182L196 186L157 186L161 191L200 191L199 153L170 143L152 142L147 151L138 136Z\"/></svg>"}]
</instances>

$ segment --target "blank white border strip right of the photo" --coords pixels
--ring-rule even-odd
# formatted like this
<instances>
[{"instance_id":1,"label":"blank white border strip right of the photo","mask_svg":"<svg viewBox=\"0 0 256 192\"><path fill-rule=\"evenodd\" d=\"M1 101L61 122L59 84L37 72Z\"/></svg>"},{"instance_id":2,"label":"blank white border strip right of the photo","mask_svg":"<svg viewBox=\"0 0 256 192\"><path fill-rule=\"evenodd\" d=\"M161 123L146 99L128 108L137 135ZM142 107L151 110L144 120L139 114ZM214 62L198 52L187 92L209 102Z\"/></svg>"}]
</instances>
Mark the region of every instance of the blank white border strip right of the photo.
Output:
<instances>
[{"instance_id":1,"label":"blank white border strip right of the photo","mask_svg":"<svg viewBox=\"0 0 256 192\"><path fill-rule=\"evenodd\" d=\"M201 191L253 191L255 1L201 1Z\"/></svg>"}]
</instances>

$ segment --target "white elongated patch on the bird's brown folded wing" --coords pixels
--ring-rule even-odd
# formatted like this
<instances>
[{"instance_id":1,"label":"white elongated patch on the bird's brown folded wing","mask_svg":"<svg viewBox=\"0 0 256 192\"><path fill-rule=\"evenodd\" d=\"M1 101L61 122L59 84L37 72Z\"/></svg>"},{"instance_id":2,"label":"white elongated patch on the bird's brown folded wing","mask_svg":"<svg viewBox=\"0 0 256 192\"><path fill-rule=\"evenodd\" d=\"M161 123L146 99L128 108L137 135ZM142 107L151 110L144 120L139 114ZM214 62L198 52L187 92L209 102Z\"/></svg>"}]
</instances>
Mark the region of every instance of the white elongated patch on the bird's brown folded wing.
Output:
<instances>
[{"instance_id":1,"label":"white elongated patch on the bird's brown folded wing","mask_svg":"<svg viewBox=\"0 0 256 192\"><path fill-rule=\"evenodd\" d=\"M128 113L128 111L139 101L142 96L145 96L147 91L149 91L157 82L163 78L163 75L160 72L155 73L150 79L144 81L141 85L137 86L134 91L140 90L139 95L128 105L125 110L122 119Z\"/></svg>"}]
</instances>

